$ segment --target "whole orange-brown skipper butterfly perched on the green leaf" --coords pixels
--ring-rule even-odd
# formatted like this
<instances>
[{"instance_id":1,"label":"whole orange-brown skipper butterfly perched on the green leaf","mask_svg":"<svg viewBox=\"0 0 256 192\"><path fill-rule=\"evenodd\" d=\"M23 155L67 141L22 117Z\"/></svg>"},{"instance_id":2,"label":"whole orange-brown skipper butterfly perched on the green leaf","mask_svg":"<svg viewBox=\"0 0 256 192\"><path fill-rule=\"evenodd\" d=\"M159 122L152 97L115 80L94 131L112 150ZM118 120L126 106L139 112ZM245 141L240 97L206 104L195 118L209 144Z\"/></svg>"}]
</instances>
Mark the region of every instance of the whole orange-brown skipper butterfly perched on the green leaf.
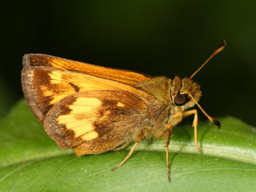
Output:
<instances>
[{"instance_id":1,"label":"whole orange-brown skipper butterfly perched on the green leaf","mask_svg":"<svg viewBox=\"0 0 256 192\"><path fill-rule=\"evenodd\" d=\"M23 58L22 89L33 114L61 148L74 148L78 155L120 150L135 141L124 161L141 141L165 138L168 179L168 145L172 129L195 115L200 86L191 78L225 47L224 43L189 78L150 77L129 70L100 67L45 54ZM220 122L205 115L220 127ZM200 151L201 152L201 151ZM113 168L113 170L115 169Z\"/></svg>"}]
</instances>

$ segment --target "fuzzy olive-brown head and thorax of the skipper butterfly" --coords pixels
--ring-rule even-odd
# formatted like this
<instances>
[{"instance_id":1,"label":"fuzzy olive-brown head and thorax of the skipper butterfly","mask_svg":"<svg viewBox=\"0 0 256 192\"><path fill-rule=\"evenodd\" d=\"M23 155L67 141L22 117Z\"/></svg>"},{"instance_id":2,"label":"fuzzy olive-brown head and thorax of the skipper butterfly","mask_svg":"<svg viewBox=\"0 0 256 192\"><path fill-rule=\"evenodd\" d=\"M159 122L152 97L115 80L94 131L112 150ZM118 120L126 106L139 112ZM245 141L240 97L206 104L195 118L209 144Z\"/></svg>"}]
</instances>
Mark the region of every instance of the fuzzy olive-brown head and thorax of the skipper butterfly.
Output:
<instances>
[{"instance_id":1,"label":"fuzzy olive-brown head and thorax of the skipper butterfly","mask_svg":"<svg viewBox=\"0 0 256 192\"><path fill-rule=\"evenodd\" d=\"M149 127L146 137L164 138L166 136L166 124L175 126L182 121L182 113L195 106L195 102L188 95L193 96L196 102L201 97L200 86L189 78L168 79L166 77L154 77L135 85L137 88L148 92L156 98L148 103Z\"/></svg>"}]
</instances>

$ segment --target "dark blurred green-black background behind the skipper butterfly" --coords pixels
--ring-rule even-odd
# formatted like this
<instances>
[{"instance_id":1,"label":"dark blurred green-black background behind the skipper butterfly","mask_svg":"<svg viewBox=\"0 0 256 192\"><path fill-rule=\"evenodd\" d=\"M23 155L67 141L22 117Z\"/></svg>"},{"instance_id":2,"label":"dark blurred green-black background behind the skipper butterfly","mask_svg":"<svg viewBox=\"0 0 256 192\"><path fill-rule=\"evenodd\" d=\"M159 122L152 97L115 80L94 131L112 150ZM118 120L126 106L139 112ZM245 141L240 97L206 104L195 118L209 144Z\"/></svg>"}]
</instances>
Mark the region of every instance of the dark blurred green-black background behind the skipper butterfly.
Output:
<instances>
[{"instance_id":1,"label":"dark blurred green-black background behind the skipper butterfly","mask_svg":"<svg viewBox=\"0 0 256 192\"><path fill-rule=\"evenodd\" d=\"M1 4L0 118L21 99L26 53L106 67L190 76L211 116L255 122L255 1L5 1ZM200 113L200 120L206 117ZM191 122L191 120L189 120Z\"/></svg>"}]
</instances>

